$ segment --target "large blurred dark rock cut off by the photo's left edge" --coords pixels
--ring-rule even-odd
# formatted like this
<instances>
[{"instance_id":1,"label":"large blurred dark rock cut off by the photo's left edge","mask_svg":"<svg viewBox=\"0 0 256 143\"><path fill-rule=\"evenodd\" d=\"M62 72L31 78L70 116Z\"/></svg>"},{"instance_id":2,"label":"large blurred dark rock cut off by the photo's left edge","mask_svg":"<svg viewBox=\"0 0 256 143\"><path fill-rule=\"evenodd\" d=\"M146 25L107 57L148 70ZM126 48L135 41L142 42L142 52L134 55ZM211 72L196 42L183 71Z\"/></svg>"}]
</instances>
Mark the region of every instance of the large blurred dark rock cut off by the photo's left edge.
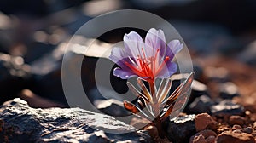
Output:
<instances>
[{"instance_id":1,"label":"large blurred dark rock cut off by the photo's left edge","mask_svg":"<svg viewBox=\"0 0 256 143\"><path fill-rule=\"evenodd\" d=\"M29 86L32 74L30 66L20 56L0 53L0 104L16 97Z\"/></svg>"}]
</instances>

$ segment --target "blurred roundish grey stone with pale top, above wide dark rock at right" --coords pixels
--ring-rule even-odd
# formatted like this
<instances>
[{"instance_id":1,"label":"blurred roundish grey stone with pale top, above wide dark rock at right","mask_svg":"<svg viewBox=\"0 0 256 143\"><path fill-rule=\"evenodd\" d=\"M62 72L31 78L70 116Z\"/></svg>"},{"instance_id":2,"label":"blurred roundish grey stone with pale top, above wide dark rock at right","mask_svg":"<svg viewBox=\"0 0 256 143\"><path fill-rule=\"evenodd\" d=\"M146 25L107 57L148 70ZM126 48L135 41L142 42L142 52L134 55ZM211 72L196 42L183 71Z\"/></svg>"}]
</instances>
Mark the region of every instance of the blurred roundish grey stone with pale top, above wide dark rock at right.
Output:
<instances>
[{"instance_id":1,"label":"blurred roundish grey stone with pale top, above wide dark rock at right","mask_svg":"<svg viewBox=\"0 0 256 143\"><path fill-rule=\"evenodd\" d=\"M219 84L219 96L223 99L232 99L239 96L238 87L235 83L220 83Z\"/></svg>"}]
</instances>

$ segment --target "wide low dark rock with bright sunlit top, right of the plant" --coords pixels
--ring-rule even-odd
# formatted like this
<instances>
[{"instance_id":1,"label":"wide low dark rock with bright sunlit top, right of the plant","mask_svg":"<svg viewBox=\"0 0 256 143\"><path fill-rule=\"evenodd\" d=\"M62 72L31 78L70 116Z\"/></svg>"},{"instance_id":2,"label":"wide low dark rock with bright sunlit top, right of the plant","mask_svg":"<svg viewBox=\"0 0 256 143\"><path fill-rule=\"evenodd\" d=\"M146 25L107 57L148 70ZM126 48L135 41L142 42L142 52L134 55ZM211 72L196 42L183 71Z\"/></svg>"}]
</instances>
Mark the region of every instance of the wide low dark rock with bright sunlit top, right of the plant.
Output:
<instances>
[{"instance_id":1,"label":"wide low dark rock with bright sunlit top, right of the plant","mask_svg":"<svg viewBox=\"0 0 256 143\"><path fill-rule=\"evenodd\" d=\"M244 107L233 103L231 100L223 100L218 105L211 106L213 115L222 117L224 115L243 115Z\"/></svg>"}]
</instances>

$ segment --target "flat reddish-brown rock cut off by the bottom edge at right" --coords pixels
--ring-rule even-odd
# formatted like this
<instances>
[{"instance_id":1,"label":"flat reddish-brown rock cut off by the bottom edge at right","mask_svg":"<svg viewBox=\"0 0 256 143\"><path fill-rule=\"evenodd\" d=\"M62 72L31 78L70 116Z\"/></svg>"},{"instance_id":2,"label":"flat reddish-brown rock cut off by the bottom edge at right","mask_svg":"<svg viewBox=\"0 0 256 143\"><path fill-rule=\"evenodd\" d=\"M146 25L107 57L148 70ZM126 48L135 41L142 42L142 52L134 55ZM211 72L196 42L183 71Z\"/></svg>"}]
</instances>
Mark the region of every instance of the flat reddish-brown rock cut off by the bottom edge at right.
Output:
<instances>
[{"instance_id":1,"label":"flat reddish-brown rock cut off by the bottom edge at right","mask_svg":"<svg viewBox=\"0 0 256 143\"><path fill-rule=\"evenodd\" d=\"M254 137L251 134L246 133L233 133L231 131L224 131L221 134L218 134L217 138L218 143L255 143Z\"/></svg>"}]
</instances>

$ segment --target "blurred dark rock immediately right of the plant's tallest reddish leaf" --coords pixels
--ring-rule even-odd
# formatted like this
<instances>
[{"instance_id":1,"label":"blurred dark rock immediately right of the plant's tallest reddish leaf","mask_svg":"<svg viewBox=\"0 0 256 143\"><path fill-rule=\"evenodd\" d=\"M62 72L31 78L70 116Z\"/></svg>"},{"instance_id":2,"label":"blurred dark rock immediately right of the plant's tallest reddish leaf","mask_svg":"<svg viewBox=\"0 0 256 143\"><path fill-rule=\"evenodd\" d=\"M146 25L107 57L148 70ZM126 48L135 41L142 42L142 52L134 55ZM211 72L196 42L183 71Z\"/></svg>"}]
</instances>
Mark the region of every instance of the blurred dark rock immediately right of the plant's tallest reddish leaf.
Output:
<instances>
[{"instance_id":1,"label":"blurred dark rock immediately right of the plant's tallest reddish leaf","mask_svg":"<svg viewBox=\"0 0 256 143\"><path fill-rule=\"evenodd\" d=\"M189 104L186 108L186 112L189 114L198 114L202 112L207 112L211 114L211 106L213 106L214 102L207 95L201 95L200 97L195 98L195 100Z\"/></svg>"}]
</instances>

